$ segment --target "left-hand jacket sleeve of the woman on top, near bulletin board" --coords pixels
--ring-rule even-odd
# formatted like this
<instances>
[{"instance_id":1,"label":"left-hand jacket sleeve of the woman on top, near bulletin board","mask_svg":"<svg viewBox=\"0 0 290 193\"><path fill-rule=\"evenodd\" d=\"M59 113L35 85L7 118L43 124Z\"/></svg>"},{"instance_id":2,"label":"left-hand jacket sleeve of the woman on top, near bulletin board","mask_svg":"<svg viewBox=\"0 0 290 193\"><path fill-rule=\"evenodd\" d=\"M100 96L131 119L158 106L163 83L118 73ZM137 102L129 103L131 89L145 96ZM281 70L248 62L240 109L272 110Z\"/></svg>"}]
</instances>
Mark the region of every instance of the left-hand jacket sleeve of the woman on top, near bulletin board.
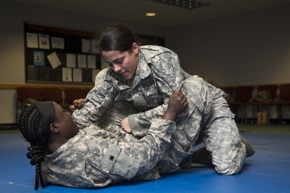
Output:
<instances>
[{"instance_id":1,"label":"left-hand jacket sleeve of the woman on top, near bulletin board","mask_svg":"<svg viewBox=\"0 0 290 193\"><path fill-rule=\"evenodd\" d=\"M88 93L85 104L76 109L72 115L80 128L94 124L99 117L110 107L115 98L115 89L109 79L108 70L102 70L96 77L95 87Z\"/></svg>"}]
</instances>

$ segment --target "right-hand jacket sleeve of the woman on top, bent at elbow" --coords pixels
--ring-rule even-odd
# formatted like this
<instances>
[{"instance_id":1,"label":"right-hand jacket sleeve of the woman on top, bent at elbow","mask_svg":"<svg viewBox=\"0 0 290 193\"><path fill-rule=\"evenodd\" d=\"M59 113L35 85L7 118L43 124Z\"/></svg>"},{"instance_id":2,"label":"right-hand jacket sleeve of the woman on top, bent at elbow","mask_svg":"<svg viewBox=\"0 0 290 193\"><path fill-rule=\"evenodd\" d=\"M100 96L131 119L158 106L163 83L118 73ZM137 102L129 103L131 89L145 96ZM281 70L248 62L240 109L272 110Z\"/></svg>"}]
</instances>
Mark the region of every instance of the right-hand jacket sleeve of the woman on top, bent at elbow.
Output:
<instances>
[{"instance_id":1,"label":"right-hand jacket sleeve of the woman on top, bent at elbow","mask_svg":"<svg viewBox=\"0 0 290 193\"><path fill-rule=\"evenodd\" d=\"M156 61L156 58L160 60ZM133 114L128 117L129 126L136 137L144 136L148 132L153 118L162 118L167 110L168 100L174 90L178 90L186 78L191 75L180 67L179 57L174 53L155 56L148 61L151 72L159 91L162 93L164 104L143 113ZM186 115L186 110L177 119Z\"/></svg>"}]
</instances>

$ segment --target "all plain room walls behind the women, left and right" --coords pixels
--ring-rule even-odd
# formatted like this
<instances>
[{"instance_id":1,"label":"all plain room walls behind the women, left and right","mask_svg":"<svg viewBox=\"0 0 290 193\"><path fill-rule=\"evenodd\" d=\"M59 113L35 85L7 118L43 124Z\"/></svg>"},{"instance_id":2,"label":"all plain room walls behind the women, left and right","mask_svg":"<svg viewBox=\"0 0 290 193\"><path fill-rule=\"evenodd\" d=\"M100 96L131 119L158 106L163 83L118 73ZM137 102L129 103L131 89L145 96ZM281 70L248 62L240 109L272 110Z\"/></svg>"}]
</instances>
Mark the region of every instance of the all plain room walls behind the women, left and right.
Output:
<instances>
[{"instance_id":1,"label":"all plain room walls behind the women, left and right","mask_svg":"<svg viewBox=\"0 0 290 193\"><path fill-rule=\"evenodd\" d=\"M169 29L130 25L136 33L164 36L166 47L180 56L185 71L218 86L280 84L290 82L289 10L287 4ZM0 84L25 84L24 21L86 32L115 23L8 0L0 1L0 14ZM14 123L16 91L0 89L0 99L5 109L0 124ZM290 113L285 118L289 117Z\"/></svg>"}]
</instances>

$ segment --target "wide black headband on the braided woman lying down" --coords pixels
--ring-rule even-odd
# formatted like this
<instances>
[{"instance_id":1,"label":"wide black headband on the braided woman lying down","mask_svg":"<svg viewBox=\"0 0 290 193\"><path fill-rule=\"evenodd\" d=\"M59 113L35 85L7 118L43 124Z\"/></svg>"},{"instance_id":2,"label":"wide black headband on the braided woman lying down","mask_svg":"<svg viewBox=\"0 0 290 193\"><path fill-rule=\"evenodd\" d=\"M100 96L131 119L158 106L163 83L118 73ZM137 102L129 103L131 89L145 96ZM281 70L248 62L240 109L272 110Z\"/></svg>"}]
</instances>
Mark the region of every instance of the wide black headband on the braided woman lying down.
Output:
<instances>
[{"instance_id":1,"label":"wide black headband on the braided woman lying down","mask_svg":"<svg viewBox=\"0 0 290 193\"><path fill-rule=\"evenodd\" d=\"M51 101L37 101L34 104L40 113L44 133L46 137L49 137L51 132L49 128L50 124L55 120L55 107Z\"/></svg>"}]
</instances>

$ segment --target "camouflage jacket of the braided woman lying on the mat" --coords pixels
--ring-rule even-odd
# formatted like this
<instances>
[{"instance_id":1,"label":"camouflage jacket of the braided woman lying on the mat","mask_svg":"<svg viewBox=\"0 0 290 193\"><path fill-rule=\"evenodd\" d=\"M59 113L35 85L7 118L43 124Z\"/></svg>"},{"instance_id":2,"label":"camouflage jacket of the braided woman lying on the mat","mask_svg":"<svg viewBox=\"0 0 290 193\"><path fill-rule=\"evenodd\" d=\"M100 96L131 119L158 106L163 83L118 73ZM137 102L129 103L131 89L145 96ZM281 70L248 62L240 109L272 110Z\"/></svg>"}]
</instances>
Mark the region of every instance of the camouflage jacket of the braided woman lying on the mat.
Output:
<instances>
[{"instance_id":1,"label":"camouflage jacket of the braided woman lying on the mat","mask_svg":"<svg viewBox=\"0 0 290 193\"><path fill-rule=\"evenodd\" d=\"M117 125L80 130L42 162L44 180L73 188L101 187L137 179L158 179L156 163L170 146L175 122L152 120L148 135L137 139Z\"/></svg>"}]
</instances>

